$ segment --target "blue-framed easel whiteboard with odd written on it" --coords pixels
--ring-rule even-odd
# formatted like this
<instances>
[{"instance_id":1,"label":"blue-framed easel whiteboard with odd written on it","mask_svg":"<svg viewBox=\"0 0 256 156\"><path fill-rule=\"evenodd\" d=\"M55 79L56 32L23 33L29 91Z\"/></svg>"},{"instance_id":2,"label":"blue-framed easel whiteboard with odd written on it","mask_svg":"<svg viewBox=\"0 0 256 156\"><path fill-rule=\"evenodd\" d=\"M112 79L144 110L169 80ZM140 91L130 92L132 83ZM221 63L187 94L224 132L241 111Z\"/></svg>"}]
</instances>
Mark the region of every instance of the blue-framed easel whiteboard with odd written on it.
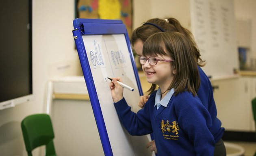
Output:
<instances>
[{"instance_id":1,"label":"blue-framed easel whiteboard with odd written on it","mask_svg":"<svg viewBox=\"0 0 256 156\"><path fill-rule=\"evenodd\" d=\"M119 26L115 27L109 23L103 27L99 26L100 30L95 25L92 26L93 30L89 30L91 26L86 23L88 20L83 19L82 22L84 27L78 28L74 25L77 30L73 31L73 35L104 154L151 156L152 152L145 147L150 137L133 137L121 125L109 87L108 77L121 77L126 85L134 89L134 91L124 89L124 97L128 105L131 106L132 111L139 110L137 104L142 90L126 29L123 33L117 33L116 29ZM89 22L101 25L101 23L117 21L89 20ZM119 30L125 28L122 27L122 23L118 24L121 26ZM82 30L82 28L85 29ZM102 32L102 29L106 31ZM80 33L81 30L84 31L82 32L84 35Z\"/></svg>"}]
</instances>

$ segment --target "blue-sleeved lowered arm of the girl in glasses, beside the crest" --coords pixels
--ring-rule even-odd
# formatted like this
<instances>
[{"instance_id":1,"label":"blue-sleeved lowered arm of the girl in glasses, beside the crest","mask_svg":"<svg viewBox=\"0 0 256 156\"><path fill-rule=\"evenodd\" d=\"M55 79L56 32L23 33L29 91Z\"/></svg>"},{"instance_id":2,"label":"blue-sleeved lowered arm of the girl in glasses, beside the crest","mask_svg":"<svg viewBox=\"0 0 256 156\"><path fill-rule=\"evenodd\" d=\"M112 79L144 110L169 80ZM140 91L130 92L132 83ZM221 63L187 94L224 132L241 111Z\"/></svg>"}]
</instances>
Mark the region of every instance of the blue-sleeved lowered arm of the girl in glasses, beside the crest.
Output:
<instances>
[{"instance_id":1,"label":"blue-sleeved lowered arm of the girl in glasses, beside the crest","mask_svg":"<svg viewBox=\"0 0 256 156\"><path fill-rule=\"evenodd\" d=\"M178 115L180 127L193 143L196 154L213 156L215 140L209 130L212 121L209 112L199 98L193 97L192 94L182 93L175 103L175 113Z\"/></svg>"}]
</instances>

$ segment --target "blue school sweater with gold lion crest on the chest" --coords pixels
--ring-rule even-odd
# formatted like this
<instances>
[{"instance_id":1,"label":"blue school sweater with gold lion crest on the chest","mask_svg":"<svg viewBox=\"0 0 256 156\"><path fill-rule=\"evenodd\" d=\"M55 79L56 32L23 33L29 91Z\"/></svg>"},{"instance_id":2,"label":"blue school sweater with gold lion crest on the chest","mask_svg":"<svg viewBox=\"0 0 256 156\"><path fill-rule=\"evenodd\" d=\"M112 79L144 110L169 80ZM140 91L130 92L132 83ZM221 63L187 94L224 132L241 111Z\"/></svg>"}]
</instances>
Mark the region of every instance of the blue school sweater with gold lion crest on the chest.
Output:
<instances>
[{"instance_id":1,"label":"blue school sweater with gold lion crest on the chest","mask_svg":"<svg viewBox=\"0 0 256 156\"><path fill-rule=\"evenodd\" d=\"M173 95L167 107L154 107L154 91L143 109L134 113L123 98L114 103L117 115L131 135L153 132L158 156L213 156L212 120L200 99L184 91Z\"/></svg>"}]
</instances>

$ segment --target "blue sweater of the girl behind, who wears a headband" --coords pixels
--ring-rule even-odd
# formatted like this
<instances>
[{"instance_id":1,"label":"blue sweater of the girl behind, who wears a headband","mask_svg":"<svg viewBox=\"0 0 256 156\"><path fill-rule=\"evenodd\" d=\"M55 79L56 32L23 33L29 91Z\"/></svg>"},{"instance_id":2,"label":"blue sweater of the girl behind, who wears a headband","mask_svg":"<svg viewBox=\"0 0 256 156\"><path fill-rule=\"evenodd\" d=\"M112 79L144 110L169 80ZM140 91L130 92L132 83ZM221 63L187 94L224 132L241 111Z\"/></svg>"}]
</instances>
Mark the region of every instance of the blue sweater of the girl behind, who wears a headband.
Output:
<instances>
[{"instance_id":1,"label":"blue sweater of the girl behind, who wears a headband","mask_svg":"<svg viewBox=\"0 0 256 156\"><path fill-rule=\"evenodd\" d=\"M210 132L213 134L215 143L217 143L223 136L225 129L221 127L221 121L217 118L217 109L213 99L213 89L210 80L199 66L198 70L200 75L200 87L197 91L197 96L210 113L213 122Z\"/></svg>"}]
</instances>

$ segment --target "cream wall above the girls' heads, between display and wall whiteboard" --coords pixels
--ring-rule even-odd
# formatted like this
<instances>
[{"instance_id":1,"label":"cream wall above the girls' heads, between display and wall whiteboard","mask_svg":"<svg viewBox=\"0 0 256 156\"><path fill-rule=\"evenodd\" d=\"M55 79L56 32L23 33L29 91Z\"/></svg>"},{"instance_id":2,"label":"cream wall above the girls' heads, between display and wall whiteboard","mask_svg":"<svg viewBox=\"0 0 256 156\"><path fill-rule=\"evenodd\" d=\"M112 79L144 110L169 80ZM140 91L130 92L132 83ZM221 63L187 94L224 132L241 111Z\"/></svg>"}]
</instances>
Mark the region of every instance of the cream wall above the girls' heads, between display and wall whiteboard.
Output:
<instances>
[{"instance_id":1,"label":"cream wall above the girls' heads, between display and wall whiteboard","mask_svg":"<svg viewBox=\"0 0 256 156\"><path fill-rule=\"evenodd\" d=\"M185 28L191 29L190 0L134 0L133 28L150 18L174 17Z\"/></svg>"}]
</instances>

